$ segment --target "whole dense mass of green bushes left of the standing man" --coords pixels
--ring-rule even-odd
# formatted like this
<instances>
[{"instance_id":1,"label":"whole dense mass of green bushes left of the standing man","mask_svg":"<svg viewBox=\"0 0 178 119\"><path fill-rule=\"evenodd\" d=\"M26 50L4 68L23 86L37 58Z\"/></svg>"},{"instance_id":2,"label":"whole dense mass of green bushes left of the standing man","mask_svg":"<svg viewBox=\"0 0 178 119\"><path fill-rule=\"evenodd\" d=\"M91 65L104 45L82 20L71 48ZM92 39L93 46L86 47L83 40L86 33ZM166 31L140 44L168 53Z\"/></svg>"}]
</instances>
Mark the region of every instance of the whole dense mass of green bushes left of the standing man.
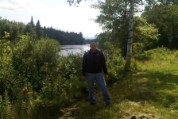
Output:
<instances>
[{"instance_id":1,"label":"whole dense mass of green bushes left of the standing man","mask_svg":"<svg viewBox=\"0 0 178 119\"><path fill-rule=\"evenodd\" d=\"M61 57L59 51L59 43L52 39L23 35L16 42L0 40L0 103L4 104L6 96L15 102L8 103L13 110L1 108L3 115L35 118L35 108L67 106L88 94L87 82L81 77L82 56Z\"/></svg>"}]
</instances>

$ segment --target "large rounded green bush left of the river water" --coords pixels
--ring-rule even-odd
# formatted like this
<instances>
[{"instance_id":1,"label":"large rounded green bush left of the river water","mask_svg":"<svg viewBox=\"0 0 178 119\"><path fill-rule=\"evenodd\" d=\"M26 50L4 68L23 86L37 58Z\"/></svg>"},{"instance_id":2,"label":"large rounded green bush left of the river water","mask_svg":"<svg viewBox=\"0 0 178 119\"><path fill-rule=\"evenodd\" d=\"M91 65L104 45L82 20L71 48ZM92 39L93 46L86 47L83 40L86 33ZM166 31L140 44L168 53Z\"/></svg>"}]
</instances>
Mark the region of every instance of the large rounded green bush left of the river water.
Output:
<instances>
[{"instance_id":1,"label":"large rounded green bush left of the river water","mask_svg":"<svg viewBox=\"0 0 178 119\"><path fill-rule=\"evenodd\" d=\"M30 82L35 91L43 86L43 80L55 70L59 44L51 39L38 41L19 40L13 48L13 68L21 77L22 87Z\"/></svg>"}]
</instances>

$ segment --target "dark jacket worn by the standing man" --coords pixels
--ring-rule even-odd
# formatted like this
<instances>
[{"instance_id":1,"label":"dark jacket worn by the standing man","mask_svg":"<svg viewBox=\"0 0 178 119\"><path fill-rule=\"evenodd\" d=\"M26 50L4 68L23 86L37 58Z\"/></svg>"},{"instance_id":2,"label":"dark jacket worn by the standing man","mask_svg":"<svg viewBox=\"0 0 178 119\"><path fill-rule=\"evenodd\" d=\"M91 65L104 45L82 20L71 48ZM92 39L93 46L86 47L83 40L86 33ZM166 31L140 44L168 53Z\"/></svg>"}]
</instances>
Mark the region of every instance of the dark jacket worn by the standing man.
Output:
<instances>
[{"instance_id":1,"label":"dark jacket worn by the standing man","mask_svg":"<svg viewBox=\"0 0 178 119\"><path fill-rule=\"evenodd\" d=\"M83 75L86 73L100 73L108 74L106 68L105 57L103 53L99 50L89 50L83 56Z\"/></svg>"}]
</instances>

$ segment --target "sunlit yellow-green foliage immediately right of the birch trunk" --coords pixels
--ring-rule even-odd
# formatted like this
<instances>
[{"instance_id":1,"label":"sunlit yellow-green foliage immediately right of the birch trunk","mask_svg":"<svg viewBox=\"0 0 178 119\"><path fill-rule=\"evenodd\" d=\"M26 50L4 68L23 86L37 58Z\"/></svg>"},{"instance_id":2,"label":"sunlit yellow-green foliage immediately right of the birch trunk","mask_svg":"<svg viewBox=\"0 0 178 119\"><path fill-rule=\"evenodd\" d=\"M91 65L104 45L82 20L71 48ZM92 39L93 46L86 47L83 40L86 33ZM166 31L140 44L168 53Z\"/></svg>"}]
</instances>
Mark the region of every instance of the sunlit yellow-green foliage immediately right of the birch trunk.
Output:
<instances>
[{"instance_id":1,"label":"sunlit yellow-green foliage immediately right of the birch trunk","mask_svg":"<svg viewBox=\"0 0 178 119\"><path fill-rule=\"evenodd\" d=\"M158 42L158 29L149 24L145 19L135 17L133 55L154 48Z\"/></svg>"}]
</instances>

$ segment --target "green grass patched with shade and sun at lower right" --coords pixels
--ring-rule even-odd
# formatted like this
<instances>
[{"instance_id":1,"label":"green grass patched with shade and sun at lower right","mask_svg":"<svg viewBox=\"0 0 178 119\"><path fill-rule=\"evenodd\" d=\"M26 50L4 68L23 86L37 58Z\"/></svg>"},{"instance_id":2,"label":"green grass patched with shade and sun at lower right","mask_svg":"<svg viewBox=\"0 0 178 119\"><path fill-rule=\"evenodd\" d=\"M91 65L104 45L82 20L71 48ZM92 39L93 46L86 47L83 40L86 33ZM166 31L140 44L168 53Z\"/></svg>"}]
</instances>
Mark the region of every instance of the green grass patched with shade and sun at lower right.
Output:
<instances>
[{"instance_id":1,"label":"green grass patched with shade and sun at lower right","mask_svg":"<svg viewBox=\"0 0 178 119\"><path fill-rule=\"evenodd\" d=\"M146 64L146 65L145 65ZM154 64L154 65L153 65ZM86 100L63 111L60 119L148 119L178 118L178 63L150 61L140 64L142 70L116 82L109 91L112 104L105 107L97 90L95 106ZM66 115L66 113L69 113Z\"/></svg>"}]
</instances>

